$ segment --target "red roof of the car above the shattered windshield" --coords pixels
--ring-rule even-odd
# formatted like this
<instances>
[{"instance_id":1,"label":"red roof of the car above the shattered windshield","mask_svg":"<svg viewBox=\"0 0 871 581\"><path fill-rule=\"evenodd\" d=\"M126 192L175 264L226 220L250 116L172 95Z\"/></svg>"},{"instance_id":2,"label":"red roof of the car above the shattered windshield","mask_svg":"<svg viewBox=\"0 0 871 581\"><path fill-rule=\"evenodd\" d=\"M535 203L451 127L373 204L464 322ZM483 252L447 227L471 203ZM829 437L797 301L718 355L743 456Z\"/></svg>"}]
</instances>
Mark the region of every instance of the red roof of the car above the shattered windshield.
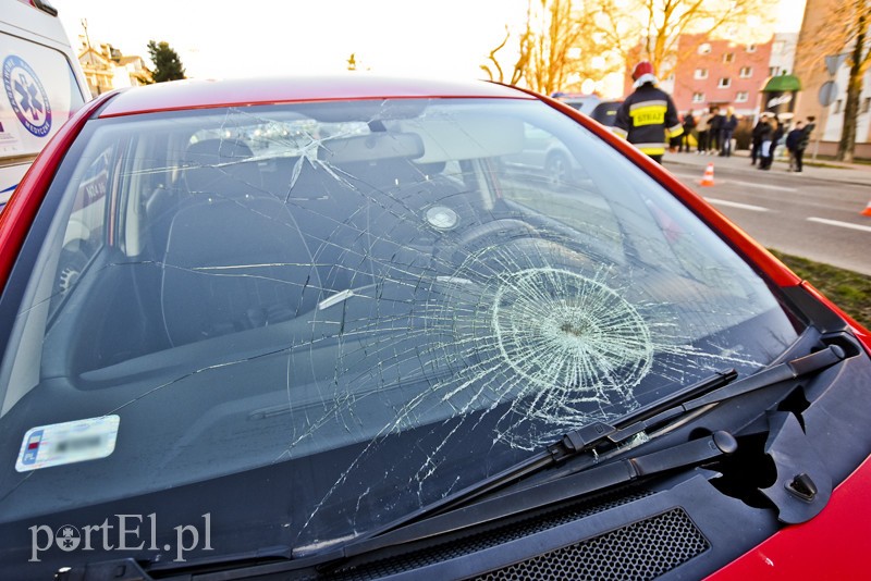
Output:
<instances>
[{"instance_id":1,"label":"red roof of the car above the shattered windshield","mask_svg":"<svg viewBox=\"0 0 871 581\"><path fill-rule=\"evenodd\" d=\"M367 73L235 79L174 81L119 91L100 118L155 111L345 99L469 97L535 99L486 81L391 77Z\"/></svg>"}]
</instances>

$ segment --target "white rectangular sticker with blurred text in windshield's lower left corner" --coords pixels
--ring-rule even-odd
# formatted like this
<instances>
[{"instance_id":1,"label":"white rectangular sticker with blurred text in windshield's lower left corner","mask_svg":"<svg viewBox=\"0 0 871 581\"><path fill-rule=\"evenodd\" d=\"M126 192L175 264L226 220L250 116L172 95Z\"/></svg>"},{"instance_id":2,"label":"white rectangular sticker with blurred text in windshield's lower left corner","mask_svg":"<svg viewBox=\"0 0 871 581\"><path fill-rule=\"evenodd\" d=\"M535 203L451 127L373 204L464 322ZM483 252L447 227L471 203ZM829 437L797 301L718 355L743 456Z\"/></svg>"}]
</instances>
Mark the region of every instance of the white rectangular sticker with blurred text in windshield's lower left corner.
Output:
<instances>
[{"instance_id":1,"label":"white rectangular sticker with blurred text in windshield's lower left corner","mask_svg":"<svg viewBox=\"0 0 871 581\"><path fill-rule=\"evenodd\" d=\"M15 470L27 472L51 466L106 458L115 449L118 416L40 425L27 430Z\"/></svg>"}]
</instances>

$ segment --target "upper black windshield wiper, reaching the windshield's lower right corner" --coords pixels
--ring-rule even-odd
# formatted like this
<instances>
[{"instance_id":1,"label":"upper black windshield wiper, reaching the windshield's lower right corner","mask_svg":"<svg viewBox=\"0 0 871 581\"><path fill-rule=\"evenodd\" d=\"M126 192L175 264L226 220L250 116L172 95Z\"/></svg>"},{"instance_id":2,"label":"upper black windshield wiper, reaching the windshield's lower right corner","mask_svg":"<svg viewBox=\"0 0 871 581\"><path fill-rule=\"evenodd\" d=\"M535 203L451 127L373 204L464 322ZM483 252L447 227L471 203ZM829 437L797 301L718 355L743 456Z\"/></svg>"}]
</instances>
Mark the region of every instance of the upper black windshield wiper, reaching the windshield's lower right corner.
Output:
<instances>
[{"instance_id":1,"label":"upper black windshield wiper, reaching the windshield's lower right corner","mask_svg":"<svg viewBox=\"0 0 871 581\"><path fill-rule=\"evenodd\" d=\"M505 487L508 484L540 472L545 468L563 462L568 458L594 453L596 448L604 443L616 446L641 432L673 422L687 412L769 387L784 381L822 371L842 361L845 357L846 355L841 347L832 345L826 349L811 355L772 366L738 382L735 382L738 373L734 369L717 372L696 384L670 394L666 398L643 406L622 417L619 421L614 422L614 424L598 421L573 430L563 435L560 441L551 444L544 450L526 460L405 515L383 527L372 529L356 536L349 544L356 544L420 521L425 518L441 515L458 508L459 506L467 505L484 494ZM589 467L594 463L596 460L591 458L590 462L575 467L566 471L565 474L589 469Z\"/></svg>"}]
</instances>

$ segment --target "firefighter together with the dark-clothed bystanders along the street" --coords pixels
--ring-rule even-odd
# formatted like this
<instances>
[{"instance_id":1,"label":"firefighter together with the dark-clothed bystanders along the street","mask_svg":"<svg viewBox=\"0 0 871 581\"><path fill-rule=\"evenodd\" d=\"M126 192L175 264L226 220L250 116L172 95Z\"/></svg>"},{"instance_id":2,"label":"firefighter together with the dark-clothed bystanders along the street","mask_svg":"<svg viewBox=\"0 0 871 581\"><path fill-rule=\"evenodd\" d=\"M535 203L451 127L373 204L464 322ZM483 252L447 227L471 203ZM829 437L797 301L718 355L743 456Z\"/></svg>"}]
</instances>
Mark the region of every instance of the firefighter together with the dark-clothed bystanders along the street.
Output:
<instances>
[{"instance_id":1,"label":"firefighter together with the dark-clothed bystanders along the street","mask_svg":"<svg viewBox=\"0 0 871 581\"><path fill-rule=\"evenodd\" d=\"M635 90L617 110L613 131L634 144L651 159L662 162L665 149L690 151L690 135L697 135L699 154L732 156L733 136L738 127L738 118L732 107L721 111L712 106L698 119L692 110L678 118L674 101L668 94L657 87L653 66L642 61L633 71ZM805 149L814 129L814 118L806 124L800 121L786 134L789 151L789 171L801 172ZM770 170L777 145L786 133L786 126L777 115L763 113L752 129L750 158L753 165L759 161L760 170Z\"/></svg>"}]
</instances>

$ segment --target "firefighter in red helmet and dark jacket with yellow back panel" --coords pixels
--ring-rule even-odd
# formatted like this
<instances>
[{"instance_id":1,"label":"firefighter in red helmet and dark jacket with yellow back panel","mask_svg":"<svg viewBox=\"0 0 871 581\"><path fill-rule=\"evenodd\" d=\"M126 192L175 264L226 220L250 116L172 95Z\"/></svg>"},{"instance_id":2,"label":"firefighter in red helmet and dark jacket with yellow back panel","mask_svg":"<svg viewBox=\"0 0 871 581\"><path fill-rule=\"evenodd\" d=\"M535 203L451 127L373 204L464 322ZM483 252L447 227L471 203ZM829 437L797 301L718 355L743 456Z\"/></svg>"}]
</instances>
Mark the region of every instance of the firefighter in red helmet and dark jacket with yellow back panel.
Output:
<instances>
[{"instance_id":1,"label":"firefighter in red helmet and dark jacket with yellow back panel","mask_svg":"<svg viewBox=\"0 0 871 581\"><path fill-rule=\"evenodd\" d=\"M633 70L635 90L621 103L611 128L650 159L662 163L670 138L677 137L684 127L677 119L672 97L657 87L653 65L641 61Z\"/></svg>"}]
</instances>

